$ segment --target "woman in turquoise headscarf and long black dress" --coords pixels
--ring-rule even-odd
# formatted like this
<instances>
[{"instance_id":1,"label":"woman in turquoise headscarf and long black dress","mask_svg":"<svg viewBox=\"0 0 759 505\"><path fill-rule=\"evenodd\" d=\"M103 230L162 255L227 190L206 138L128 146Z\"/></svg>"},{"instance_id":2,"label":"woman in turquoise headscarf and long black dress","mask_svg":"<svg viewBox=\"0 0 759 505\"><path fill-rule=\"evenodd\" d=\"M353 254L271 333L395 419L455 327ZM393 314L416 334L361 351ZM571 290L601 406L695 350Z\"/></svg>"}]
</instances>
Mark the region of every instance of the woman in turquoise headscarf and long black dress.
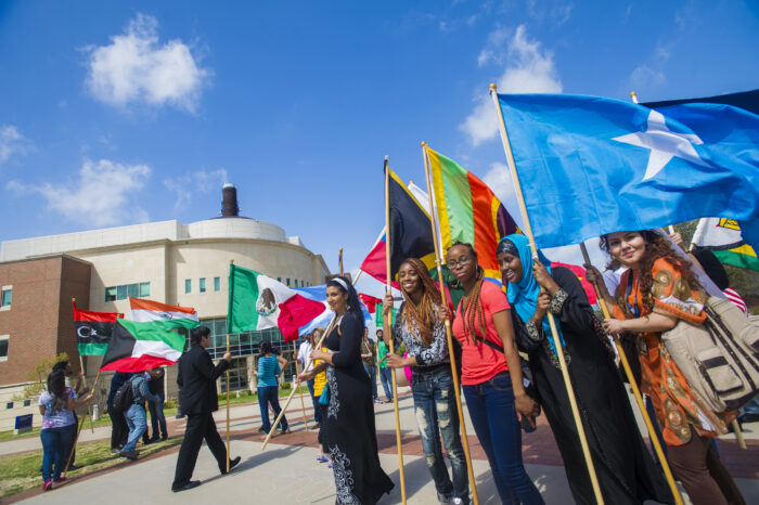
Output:
<instances>
[{"instance_id":1,"label":"woman in turquoise headscarf and long black dress","mask_svg":"<svg viewBox=\"0 0 759 505\"><path fill-rule=\"evenodd\" d=\"M564 459L578 504L594 504L569 398L553 348L545 313L550 310L564 349L573 388L606 503L672 503L665 480L643 444L606 338L594 328L593 311L577 276L551 269L542 252L533 259L527 238L509 235L498 245L498 261L519 342L532 342L529 367L539 402ZM540 293L540 288L543 288ZM522 349L527 351L528 349Z\"/></svg>"}]
</instances>

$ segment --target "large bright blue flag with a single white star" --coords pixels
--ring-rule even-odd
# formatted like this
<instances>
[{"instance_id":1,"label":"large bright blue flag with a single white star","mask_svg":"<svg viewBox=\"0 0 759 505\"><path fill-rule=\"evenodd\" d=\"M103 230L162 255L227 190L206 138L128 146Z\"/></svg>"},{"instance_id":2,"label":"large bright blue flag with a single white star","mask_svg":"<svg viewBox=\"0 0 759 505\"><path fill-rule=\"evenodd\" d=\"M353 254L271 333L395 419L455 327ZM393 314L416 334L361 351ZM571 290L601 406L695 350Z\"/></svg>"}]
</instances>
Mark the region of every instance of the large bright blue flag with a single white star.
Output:
<instances>
[{"instance_id":1,"label":"large bright blue flag with a single white star","mask_svg":"<svg viewBox=\"0 0 759 505\"><path fill-rule=\"evenodd\" d=\"M759 244L759 116L569 94L499 94L539 247L702 217Z\"/></svg>"}]
</instances>

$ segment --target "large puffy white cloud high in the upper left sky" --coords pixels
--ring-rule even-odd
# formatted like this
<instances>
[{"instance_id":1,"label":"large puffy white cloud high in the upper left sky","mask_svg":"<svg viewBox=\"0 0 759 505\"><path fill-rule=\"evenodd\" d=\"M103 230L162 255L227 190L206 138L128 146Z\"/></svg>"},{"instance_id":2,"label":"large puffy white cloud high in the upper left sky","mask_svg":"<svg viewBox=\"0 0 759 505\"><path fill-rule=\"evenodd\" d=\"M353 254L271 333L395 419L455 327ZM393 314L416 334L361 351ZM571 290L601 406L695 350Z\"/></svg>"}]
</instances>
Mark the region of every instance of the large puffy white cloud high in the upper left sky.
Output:
<instances>
[{"instance_id":1,"label":"large puffy white cloud high in the upper left sky","mask_svg":"<svg viewBox=\"0 0 759 505\"><path fill-rule=\"evenodd\" d=\"M138 14L107 46L88 48L87 88L107 104L172 105L194 112L210 72L181 40L158 42L158 22Z\"/></svg>"}]
</instances>

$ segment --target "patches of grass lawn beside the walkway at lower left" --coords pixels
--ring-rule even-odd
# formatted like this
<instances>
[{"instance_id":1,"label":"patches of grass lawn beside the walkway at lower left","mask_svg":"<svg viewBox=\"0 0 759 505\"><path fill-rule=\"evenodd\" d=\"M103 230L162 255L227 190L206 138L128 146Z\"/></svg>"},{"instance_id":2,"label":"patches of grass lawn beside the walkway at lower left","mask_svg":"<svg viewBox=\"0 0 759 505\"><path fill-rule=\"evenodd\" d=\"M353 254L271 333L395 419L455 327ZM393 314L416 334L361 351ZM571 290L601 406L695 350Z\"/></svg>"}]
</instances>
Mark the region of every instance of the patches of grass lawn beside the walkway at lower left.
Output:
<instances>
[{"instance_id":1,"label":"patches of grass lawn beside the walkway at lower left","mask_svg":"<svg viewBox=\"0 0 759 505\"><path fill-rule=\"evenodd\" d=\"M181 437L151 443L138 448L140 456L146 456L160 451L165 451L182 442ZM111 455L111 441L79 443L76 449L76 463L81 468L69 471L68 477L87 475L102 468L107 468L123 463L125 459ZM26 491L27 489L41 488L42 475L39 467L42 464L42 451L35 451L24 454L11 454L0 456L0 498L11 494ZM54 487L54 484L53 484Z\"/></svg>"}]
</instances>

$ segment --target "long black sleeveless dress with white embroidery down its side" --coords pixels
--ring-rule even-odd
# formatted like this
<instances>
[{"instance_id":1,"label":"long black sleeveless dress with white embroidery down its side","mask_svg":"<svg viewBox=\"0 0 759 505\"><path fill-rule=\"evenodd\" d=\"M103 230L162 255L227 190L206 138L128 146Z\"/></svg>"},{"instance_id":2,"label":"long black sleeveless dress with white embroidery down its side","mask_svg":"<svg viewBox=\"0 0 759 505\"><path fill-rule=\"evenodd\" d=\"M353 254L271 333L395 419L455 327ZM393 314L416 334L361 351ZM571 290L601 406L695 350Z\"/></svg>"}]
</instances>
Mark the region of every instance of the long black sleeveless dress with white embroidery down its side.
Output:
<instances>
[{"instance_id":1,"label":"long black sleeveless dress with white embroidery down its side","mask_svg":"<svg viewBox=\"0 0 759 505\"><path fill-rule=\"evenodd\" d=\"M380 466L372 386L361 363L362 338L362 324L351 313L326 337L334 353L326 367L330 404L322 423L339 505L373 505L394 487Z\"/></svg>"}]
</instances>

